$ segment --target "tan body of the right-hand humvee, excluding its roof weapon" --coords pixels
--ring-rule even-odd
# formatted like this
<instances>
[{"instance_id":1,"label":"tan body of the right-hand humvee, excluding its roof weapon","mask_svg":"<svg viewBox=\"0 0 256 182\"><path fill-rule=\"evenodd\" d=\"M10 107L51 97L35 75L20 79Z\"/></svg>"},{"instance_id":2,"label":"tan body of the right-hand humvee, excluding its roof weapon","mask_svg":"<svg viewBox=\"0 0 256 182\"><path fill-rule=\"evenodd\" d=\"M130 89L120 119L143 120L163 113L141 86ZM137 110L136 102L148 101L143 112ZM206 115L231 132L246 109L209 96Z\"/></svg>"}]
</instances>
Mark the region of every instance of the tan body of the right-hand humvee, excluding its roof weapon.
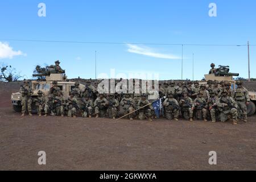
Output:
<instances>
[{"instance_id":1,"label":"tan body of the right-hand humvee, excluding its roof weapon","mask_svg":"<svg viewBox=\"0 0 256 182\"><path fill-rule=\"evenodd\" d=\"M216 81L228 81L231 84L232 90L236 90L237 85L236 81L233 80L233 76L217 76L216 74L204 75L205 81L201 81L200 84L207 84L208 80L216 80ZM249 91L250 96L250 104L247 105L247 115L251 116L255 114L256 110L256 92Z\"/></svg>"}]
</instances>

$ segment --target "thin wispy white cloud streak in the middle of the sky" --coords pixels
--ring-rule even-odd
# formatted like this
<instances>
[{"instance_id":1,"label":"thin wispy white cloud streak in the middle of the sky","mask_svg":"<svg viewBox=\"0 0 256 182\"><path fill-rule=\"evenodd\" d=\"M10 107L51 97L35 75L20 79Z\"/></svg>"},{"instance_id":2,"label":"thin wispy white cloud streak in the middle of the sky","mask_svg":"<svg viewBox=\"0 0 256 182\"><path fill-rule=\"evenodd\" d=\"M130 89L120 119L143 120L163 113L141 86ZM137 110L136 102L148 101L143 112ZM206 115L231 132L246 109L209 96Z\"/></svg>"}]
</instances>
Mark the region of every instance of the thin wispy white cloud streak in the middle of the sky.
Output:
<instances>
[{"instance_id":1,"label":"thin wispy white cloud streak in the middle of the sky","mask_svg":"<svg viewBox=\"0 0 256 182\"><path fill-rule=\"evenodd\" d=\"M155 52L149 47L140 47L133 44L127 44L127 46L128 52L138 53L139 55L145 55L161 59L181 59L179 56Z\"/></svg>"}]
</instances>

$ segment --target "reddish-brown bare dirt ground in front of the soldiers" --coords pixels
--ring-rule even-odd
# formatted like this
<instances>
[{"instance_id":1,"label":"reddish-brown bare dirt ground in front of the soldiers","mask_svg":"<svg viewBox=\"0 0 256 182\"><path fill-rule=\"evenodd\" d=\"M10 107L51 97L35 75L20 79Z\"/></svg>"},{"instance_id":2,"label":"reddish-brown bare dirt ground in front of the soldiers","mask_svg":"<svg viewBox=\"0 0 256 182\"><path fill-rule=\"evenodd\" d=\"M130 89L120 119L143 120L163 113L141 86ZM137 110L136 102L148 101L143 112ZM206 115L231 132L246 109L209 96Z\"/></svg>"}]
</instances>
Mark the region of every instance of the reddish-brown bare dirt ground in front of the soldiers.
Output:
<instances>
[{"instance_id":1,"label":"reddish-brown bare dirt ground in front of the soldiers","mask_svg":"<svg viewBox=\"0 0 256 182\"><path fill-rule=\"evenodd\" d=\"M256 115L237 126L22 118L10 103L17 85L0 84L0 170L256 170ZM38 164L39 151L46 152L46 165ZM217 165L209 165L209 151L217 152Z\"/></svg>"}]
</instances>

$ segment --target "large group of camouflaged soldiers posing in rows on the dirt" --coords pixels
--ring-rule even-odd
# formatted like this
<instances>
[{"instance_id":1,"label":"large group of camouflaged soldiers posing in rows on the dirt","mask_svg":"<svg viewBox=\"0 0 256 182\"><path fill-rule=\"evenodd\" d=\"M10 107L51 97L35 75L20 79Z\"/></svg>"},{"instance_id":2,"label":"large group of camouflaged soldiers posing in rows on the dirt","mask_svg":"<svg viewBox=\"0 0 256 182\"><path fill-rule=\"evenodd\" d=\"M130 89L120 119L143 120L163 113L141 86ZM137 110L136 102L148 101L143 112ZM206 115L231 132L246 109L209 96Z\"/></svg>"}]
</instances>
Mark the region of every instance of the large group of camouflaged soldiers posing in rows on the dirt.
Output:
<instances>
[{"instance_id":1,"label":"large group of camouflaged soldiers posing in rows on the dirt","mask_svg":"<svg viewBox=\"0 0 256 182\"><path fill-rule=\"evenodd\" d=\"M201 85L192 81L179 82L177 85L174 81L170 84L164 82L159 84L157 99L162 101L162 115L167 119L179 121L183 117L191 122L193 119L212 122L233 119L233 124L236 125L238 119L247 122L246 105L250 102L248 91L242 86L242 82L237 81L236 84L237 89L233 91L230 83L224 81L208 81ZM130 120L139 118L148 121L156 118L149 94L97 94L96 85L88 83L84 90L79 85L79 82L75 82L75 88L69 92L67 100L57 86L57 81L53 81L48 96L44 96L39 90L38 97L33 100L38 107L38 115L82 115L89 118L95 115L96 118L113 119L127 115ZM32 90L27 81L20 87L20 93L22 115L26 109L31 115Z\"/></svg>"}]
</instances>

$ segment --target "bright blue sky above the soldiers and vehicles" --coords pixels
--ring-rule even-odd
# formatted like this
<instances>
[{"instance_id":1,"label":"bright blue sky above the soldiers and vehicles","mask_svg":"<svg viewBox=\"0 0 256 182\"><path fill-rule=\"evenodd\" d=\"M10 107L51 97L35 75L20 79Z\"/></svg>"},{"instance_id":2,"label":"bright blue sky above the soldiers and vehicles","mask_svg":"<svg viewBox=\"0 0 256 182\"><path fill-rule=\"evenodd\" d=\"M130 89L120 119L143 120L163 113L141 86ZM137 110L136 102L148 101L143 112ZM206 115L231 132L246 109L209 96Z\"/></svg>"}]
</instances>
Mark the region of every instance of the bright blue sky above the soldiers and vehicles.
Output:
<instances>
[{"instance_id":1,"label":"bright blue sky above the soldiers and vehicles","mask_svg":"<svg viewBox=\"0 0 256 182\"><path fill-rule=\"evenodd\" d=\"M38 16L38 4L46 4L46 17ZM216 3L217 17L208 15ZM115 73L158 73L161 80L181 78L181 46L170 44L256 44L256 1L1 1L0 42L16 56L1 57L31 78L35 65L54 64L59 59L69 78L94 78L110 69ZM6 39L73 42L118 42L85 44L20 42ZM256 46L250 47L251 77L256 77ZM246 46L184 46L183 78L204 77L210 63L230 65L231 72L247 78ZM3 54L3 51L2 51Z\"/></svg>"}]
</instances>

